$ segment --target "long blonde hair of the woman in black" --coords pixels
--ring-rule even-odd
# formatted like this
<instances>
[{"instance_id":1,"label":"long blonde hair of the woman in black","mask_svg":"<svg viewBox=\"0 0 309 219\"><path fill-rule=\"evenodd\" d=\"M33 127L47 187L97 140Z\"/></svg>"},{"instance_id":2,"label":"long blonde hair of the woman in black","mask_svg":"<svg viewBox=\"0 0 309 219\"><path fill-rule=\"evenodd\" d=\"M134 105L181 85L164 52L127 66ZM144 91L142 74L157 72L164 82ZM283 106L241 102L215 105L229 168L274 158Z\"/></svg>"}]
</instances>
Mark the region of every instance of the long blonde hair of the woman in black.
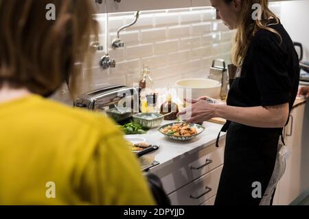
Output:
<instances>
[{"instance_id":1,"label":"long blonde hair of the woman in black","mask_svg":"<svg viewBox=\"0 0 309 219\"><path fill-rule=\"evenodd\" d=\"M226 3L231 3L233 0L225 0ZM253 19L252 9L253 4L260 4L260 18ZM279 23L279 18L268 8L268 0L242 0L240 16L238 18L238 30L236 32L233 49L232 49L232 62L236 66L242 66L244 57L247 55L250 42L259 29L266 29L278 36L280 41L282 37L273 28L269 27L269 19L275 19L274 24Z\"/></svg>"}]
</instances>

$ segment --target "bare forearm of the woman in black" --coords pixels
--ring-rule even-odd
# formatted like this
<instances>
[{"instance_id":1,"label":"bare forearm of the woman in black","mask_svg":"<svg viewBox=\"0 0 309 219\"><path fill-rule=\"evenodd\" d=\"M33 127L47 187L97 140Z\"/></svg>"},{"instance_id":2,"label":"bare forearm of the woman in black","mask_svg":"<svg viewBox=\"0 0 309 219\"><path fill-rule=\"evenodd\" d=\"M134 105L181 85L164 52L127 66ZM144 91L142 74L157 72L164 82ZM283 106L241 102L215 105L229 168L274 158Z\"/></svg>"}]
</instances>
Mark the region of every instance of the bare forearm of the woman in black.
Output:
<instances>
[{"instance_id":1,"label":"bare forearm of the woman in black","mask_svg":"<svg viewBox=\"0 0 309 219\"><path fill-rule=\"evenodd\" d=\"M274 107L232 107L215 105L215 117L261 128L284 127L288 119L288 103Z\"/></svg>"}]
</instances>

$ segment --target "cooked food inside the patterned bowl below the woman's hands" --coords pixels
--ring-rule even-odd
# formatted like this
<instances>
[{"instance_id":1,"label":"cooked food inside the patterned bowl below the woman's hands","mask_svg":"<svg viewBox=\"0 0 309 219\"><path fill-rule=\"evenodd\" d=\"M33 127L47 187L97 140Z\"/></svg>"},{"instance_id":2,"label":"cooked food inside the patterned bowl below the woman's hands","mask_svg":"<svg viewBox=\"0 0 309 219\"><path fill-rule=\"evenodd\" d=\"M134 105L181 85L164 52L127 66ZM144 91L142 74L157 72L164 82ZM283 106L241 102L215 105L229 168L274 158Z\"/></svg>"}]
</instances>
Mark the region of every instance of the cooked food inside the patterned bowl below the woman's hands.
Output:
<instances>
[{"instance_id":1,"label":"cooked food inside the patterned bowl below the woman's hands","mask_svg":"<svg viewBox=\"0 0 309 219\"><path fill-rule=\"evenodd\" d=\"M193 136L198 132L188 123L177 123L175 125L165 127L165 129L163 129L163 133L167 133L172 136Z\"/></svg>"}]
</instances>

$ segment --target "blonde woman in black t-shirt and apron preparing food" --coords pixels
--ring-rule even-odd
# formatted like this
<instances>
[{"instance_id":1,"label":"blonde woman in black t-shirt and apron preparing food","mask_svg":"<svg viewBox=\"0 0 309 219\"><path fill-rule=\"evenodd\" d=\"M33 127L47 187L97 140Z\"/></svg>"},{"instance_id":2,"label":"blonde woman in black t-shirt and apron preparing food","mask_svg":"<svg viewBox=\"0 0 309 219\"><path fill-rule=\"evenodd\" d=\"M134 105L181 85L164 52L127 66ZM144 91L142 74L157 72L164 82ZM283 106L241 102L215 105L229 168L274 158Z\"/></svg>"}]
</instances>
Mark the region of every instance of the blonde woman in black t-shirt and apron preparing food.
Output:
<instances>
[{"instance_id":1,"label":"blonde woman in black t-shirt and apron preparing food","mask_svg":"<svg viewBox=\"0 0 309 219\"><path fill-rule=\"evenodd\" d=\"M186 100L193 103L188 122L214 117L228 121L222 128L227 131L225 164L216 205L259 205L297 96L299 60L290 36L268 9L268 0L211 0L211 4L218 19L229 29L237 29L232 58L238 76L227 105L207 103L207 97ZM262 191L255 196L257 185Z\"/></svg>"}]
</instances>

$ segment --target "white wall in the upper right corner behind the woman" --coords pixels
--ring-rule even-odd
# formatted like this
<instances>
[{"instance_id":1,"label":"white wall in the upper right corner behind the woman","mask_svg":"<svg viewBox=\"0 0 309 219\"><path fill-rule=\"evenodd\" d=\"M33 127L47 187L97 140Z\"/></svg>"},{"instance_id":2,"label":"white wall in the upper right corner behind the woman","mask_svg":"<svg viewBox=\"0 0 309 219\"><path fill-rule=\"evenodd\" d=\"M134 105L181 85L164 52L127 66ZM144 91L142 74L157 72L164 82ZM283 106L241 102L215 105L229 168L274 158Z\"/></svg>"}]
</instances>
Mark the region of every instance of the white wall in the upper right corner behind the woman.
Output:
<instances>
[{"instance_id":1,"label":"white wall in the upper right corner behind the woman","mask_svg":"<svg viewBox=\"0 0 309 219\"><path fill-rule=\"evenodd\" d=\"M309 61L309 0L282 2L280 18L292 40L303 44L303 60Z\"/></svg>"}]
</instances>

